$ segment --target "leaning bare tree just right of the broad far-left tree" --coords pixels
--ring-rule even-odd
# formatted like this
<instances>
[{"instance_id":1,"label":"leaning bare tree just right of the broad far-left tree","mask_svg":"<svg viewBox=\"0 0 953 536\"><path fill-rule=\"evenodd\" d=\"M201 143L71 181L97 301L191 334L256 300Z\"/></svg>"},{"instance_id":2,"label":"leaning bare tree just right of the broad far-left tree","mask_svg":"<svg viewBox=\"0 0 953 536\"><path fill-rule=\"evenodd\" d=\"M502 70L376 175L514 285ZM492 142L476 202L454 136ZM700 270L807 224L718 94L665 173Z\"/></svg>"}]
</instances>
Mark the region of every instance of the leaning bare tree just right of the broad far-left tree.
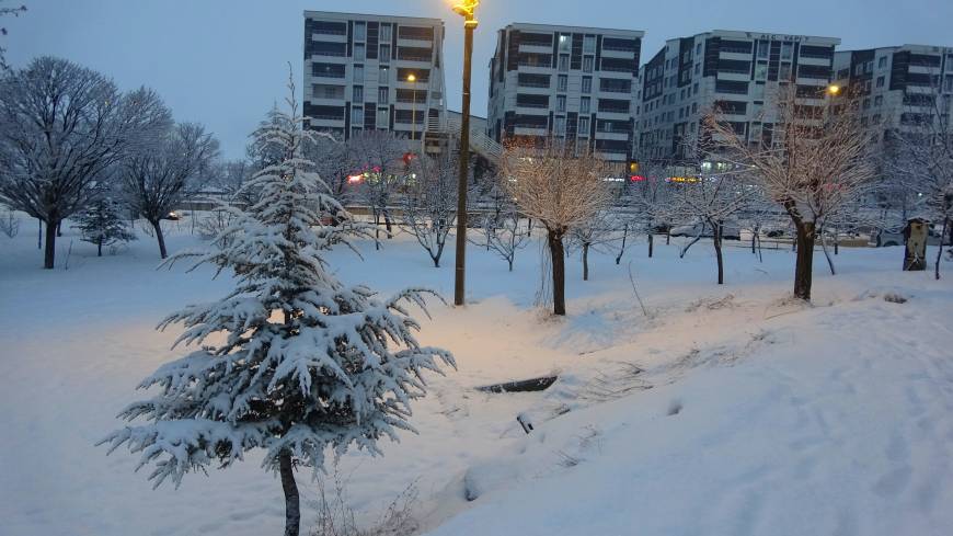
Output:
<instances>
[{"instance_id":1,"label":"leaning bare tree just right of the broad far-left tree","mask_svg":"<svg viewBox=\"0 0 953 536\"><path fill-rule=\"evenodd\" d=\"M168 256L162 220L182 203L190 180L207 171L217 155L218 140L211 133L202 125L182 123L123 162L129 206L156 230L162 259Z\"/></svg>"}]
</instances>

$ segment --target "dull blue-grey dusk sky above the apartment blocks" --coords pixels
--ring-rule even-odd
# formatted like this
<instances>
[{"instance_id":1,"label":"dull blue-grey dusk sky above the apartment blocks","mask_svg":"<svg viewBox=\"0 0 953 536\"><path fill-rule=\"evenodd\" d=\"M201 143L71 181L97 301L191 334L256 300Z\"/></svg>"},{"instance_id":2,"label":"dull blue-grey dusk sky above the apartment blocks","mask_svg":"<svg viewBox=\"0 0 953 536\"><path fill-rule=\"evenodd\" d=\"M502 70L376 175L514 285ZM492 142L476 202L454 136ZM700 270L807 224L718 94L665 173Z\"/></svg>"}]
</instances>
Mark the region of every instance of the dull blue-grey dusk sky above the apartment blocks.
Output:
<instances>
[{"instance_id":1,"label":"dull blue-grey dusk sky above the apartment blocks","mask_svg":"<svg viewBox=\"0 0 953 536\"><path fill-rule=\"evenodd\" d=\"M28 11L2 24L8 60L56 55L122 89L150 85L176 119L205 123L228 158L284 95L287 64L301 85L302 11L441 18L449 107L460 109L462 22L449 0L7 0ZM836 36L841 49L905 43L953 46L953 0L483 0L473 55L473 113L486 114L496 30L510 22L642 30L642 56L709 30Z\"/></svg>"}]
</instances>

